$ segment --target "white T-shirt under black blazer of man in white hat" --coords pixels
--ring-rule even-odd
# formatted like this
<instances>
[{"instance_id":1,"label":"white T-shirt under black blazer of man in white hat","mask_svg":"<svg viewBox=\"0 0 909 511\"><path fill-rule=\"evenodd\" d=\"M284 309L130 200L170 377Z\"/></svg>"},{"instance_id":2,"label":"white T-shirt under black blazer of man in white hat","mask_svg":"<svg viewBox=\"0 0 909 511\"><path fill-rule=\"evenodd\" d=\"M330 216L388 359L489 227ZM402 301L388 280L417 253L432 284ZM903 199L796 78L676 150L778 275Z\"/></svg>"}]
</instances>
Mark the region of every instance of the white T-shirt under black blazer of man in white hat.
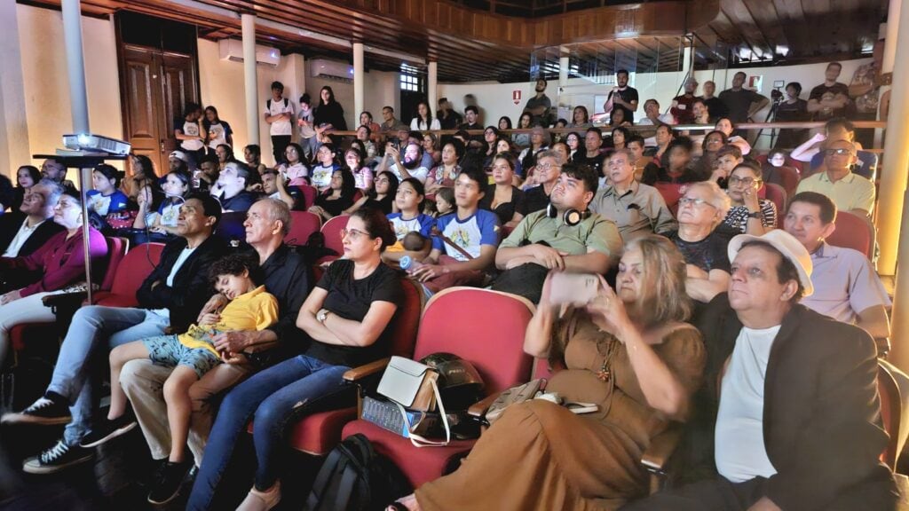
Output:
<instances>
[{"instance_id":1,"label":"white T-shirt under black blazer of man in white hat","mask_svg":"<svg viewBox=\"0 0 909 511\"><path fill-rule=\"evenodd\" d=\"M764 446L764 377L779 331L780 326L743 327L720 384L714 461L717 472L733 483L776 474Z\"/></svg>"}]
</instances>

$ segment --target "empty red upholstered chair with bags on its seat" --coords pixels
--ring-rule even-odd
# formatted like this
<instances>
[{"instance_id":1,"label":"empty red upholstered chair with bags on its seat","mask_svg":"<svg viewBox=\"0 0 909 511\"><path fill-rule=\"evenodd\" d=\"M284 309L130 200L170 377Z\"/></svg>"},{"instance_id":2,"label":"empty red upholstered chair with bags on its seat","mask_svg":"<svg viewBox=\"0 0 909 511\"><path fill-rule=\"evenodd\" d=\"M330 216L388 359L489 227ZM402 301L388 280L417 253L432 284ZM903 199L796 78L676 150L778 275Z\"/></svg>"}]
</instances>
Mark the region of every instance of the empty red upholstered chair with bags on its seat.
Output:
<instances>
[{"instance_id":1,"label":"empty red upholstered chair with bags on its seat","mask_svg":"<svg viewBox=\"0 0 909 511\"><path fill-rule=\"evenodd\" d=\"M520 296L474 287L445 289L426 305L414 359L438 352L461 356L483 377L484 391L497 395L531 374L534 359L524 354L524 331L533 314L533 304ZM414 487L442 476L449 459L474 446L474 440L452 440L444 447L416 448L363 419L348 423L343 436L356 433L368 436Z\"/></svg>"}]
</instances>

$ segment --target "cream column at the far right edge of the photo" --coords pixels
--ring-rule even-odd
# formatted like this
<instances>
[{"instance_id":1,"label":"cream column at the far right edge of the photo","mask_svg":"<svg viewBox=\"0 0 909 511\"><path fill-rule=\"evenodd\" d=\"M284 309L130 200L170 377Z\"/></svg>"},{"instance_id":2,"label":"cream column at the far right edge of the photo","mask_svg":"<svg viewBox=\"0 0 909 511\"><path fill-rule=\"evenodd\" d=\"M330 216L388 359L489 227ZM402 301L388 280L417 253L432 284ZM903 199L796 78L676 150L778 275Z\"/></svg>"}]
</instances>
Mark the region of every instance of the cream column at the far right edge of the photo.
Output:
<instances>
[{"instance_id":1,"label":"cream column at the far right edge of the photo","mask_svg":"<svg viewBox=\"0 0 909 511\"><path fill-rule=\"evenodd\" d=\"M893 6L893 5L891 5ZM894 55L909 55L909 9L900 9L898 19L889 19L888 24L903 28L896 40ZM878 272L894 275L899 255L909 257L909 203L906 202L906 169L909 168L909 62L894 59L894 88L890 99L890 115L887 116L887 157L881 173L880 202L878 204L877 227L881 245ZM903 370L909 369L909 272L896 275L894 308L891 319L893 351L890 359Z\"/></svg>"}]
</instances>

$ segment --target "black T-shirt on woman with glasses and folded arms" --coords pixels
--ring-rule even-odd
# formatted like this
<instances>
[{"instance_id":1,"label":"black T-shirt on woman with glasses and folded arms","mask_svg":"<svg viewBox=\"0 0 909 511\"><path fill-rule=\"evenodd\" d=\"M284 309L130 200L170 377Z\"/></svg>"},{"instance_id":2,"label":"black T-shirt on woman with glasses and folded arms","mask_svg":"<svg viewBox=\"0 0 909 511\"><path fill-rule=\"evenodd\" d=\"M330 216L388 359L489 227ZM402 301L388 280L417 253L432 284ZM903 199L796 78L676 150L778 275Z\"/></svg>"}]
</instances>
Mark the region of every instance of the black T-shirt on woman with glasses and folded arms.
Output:
<instances>
[{"instance_id":1,"label":"black T-shirt on woman with glasses and folded arms","mask_svg":"<svg viewBox=\"0 0 909 511\"><path fill-rule=\"evenodd\" d=\"M315 286L328 292L323 308L352 321L363 321L369 307L376 301L391 302L398 307L404 304L401 279L387 265L379 265L370 276L355 280L354 262L338 259L332 266L328 266L325 275ZM306 350L306 356L335 366L356 367L369 364L387 355L394 323L393 318L370 346L335 346L313 339L313 344Z\"/></svg>"}]
</instances>

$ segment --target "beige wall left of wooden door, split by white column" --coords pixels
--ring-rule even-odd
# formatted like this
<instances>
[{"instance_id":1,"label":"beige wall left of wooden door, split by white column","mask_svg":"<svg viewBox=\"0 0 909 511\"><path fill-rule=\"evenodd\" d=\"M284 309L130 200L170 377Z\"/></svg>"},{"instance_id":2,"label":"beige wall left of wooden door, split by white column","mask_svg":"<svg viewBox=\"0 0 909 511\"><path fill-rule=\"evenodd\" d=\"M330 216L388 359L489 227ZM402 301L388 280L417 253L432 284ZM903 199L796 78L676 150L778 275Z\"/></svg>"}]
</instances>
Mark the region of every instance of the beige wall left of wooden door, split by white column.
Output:
<instances>
[{"instance_id":1,"label":"beige wall left of wooden door, split by white column","mask_svg":"<svg viewBox=\"0 0 909 511\"><path fill-rule=\"evenodd\" d=\"M53 154L63 145L62 135L70 133L73 127L63 15L59 11L16 5L16 17L28 119L27 126L18 129L27 130L32 154ZM83 16L82 37L89 127L98 135L123 138L114 21ZM39 161L34 163L40 165ZM70 173L75 177L75 172Z\"/></svg>"}]
</instances>

